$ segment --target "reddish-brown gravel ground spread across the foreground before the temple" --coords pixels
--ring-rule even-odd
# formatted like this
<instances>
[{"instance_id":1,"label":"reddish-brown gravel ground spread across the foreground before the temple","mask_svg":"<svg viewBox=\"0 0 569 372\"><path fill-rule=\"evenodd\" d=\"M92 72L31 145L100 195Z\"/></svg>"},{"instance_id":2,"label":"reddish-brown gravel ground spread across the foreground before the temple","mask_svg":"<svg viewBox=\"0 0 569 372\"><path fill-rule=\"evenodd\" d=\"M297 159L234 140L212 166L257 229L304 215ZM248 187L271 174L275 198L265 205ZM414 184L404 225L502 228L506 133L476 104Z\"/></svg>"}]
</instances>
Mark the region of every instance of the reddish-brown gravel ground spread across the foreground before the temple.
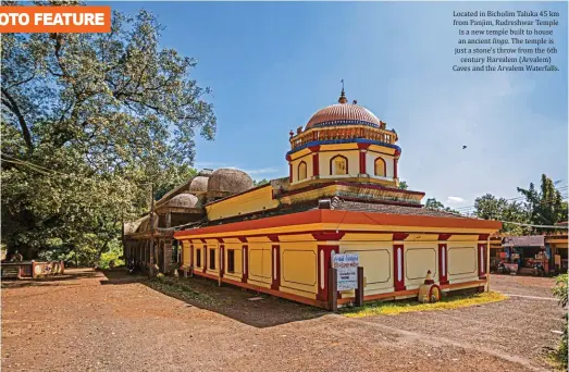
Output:
<instances>
[{"instance_id":1,"label":"reddish-brown gravel ground spread across the foreground before the temple","mask_svg":"<svg viewBox=\"0 0 569 372\"><path fill-rule=\"evenodd\" d=\"M67 273L2 284L3 370L545 370L543 348L562 325L555 301L525 297L347 319L265 296L249 301L258 295L205 280L188 282L203 296L180 300L122 272ZM494 289L509 293L519 278ZM532 280L519 286L530 296L553 283Z\"/></svg>"}]
</instances>

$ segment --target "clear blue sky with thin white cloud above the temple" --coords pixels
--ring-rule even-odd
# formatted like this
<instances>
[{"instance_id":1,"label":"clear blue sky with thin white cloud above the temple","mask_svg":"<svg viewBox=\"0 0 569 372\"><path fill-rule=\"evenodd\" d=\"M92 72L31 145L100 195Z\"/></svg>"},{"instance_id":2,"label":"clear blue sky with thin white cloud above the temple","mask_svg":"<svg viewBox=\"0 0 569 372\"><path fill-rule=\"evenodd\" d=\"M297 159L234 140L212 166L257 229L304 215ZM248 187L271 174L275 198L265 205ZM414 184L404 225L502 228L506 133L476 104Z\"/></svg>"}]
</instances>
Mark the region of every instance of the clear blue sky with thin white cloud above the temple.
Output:
<instances>
[{"instance_id":1,"label":"clear blue sky with thin white cloud above the temple","mask_svg":"<svg viewBox=\"0 0 569 372\"><path fill-rule=\"evenodd\" d=\"M196 168L286 176L288 132L335 103L344 78L349 100L397 131L410 189L465 207L485 193L518 197L542 173L568 183L567 2L111 5L152 11L166 27L163 47L198 59L193 76L213 90L218 134L197 139ZM560 71L453 72L455 10L560 12Z\"/></svg>"}]
</instances>

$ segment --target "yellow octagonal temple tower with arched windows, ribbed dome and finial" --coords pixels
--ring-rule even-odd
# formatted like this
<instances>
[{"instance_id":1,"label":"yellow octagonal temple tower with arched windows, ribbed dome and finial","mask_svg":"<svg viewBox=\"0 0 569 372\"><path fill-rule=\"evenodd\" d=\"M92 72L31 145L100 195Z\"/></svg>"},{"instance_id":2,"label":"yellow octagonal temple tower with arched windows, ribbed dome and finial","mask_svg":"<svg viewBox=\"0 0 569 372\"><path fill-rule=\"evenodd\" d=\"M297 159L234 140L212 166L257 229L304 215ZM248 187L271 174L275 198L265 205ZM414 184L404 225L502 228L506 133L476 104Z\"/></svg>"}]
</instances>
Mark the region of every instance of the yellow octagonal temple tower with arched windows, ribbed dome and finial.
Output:
<instances>
[{"instance_id":1,"label":"yellow octagonal temple tower with arched windows, ribbed dome and finial","mask_svg":"<svg viewBox=\"0 0 569 372\"><path fill-rule=\"evenodd\" d=\"M401 149L397 133L342 88L338 103L317 111L306 126L290 132L292 188L334 181L397 187Z\"/></svg>"}]
</instances>

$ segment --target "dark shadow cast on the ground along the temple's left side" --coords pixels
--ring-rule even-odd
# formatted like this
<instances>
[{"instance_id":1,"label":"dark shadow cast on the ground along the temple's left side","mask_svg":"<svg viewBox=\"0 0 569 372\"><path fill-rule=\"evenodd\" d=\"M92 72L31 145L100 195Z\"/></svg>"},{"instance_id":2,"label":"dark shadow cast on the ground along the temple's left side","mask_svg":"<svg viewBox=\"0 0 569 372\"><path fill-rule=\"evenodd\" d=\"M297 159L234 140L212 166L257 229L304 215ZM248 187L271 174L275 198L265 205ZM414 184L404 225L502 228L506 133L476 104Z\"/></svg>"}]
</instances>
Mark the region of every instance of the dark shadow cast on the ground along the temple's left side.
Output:
<instances>
[{"instance_id":1,"label":"dark shadow cast on the ground along the temple's left side","mask_svg":"<svg viewBox=\"0 0 569 372\"><path fill-rule=\"evenodd\" d=\"M101 281L101 284L139 282L163 295L186 302L188 307L213 311L259 328L327 314L322 309L238 288L228 284L223 284L220 287L217 282L201 277L180 278L178 282L169 278L169 282L164 283L143 276L132 276L125 271L104 271L103 273L108 280ZM180 283L184 289L175 286L175 283ZM251 298L262 299L250 300Z\"/></svg>"}]
</instances>

